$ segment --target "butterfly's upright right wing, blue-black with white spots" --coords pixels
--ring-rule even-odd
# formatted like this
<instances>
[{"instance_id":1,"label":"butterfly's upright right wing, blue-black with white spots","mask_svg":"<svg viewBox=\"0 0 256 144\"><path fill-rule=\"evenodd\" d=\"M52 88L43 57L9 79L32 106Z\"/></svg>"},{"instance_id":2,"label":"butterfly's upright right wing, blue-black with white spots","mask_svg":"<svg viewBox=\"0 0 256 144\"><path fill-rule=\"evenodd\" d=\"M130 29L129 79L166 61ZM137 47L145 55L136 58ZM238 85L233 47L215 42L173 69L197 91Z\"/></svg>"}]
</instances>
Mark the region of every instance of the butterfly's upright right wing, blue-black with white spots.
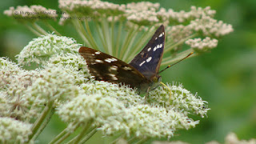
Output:
<instances>
[{"instance_id":1,"label":"butterfly's upright right wing, blue-black with white spots","mask_svg":"<svg viewBox=\"0 0 256 144\"><path fill-rule=\"evenodd\" d=\"M130 65L141 72L146 78L152 78L158 74L162 61L164 44L165 30L164 26L160 26L150 39L150 42L148 42L143 50L135 56L130 62Z\"/></svg>"}]
</instances>

